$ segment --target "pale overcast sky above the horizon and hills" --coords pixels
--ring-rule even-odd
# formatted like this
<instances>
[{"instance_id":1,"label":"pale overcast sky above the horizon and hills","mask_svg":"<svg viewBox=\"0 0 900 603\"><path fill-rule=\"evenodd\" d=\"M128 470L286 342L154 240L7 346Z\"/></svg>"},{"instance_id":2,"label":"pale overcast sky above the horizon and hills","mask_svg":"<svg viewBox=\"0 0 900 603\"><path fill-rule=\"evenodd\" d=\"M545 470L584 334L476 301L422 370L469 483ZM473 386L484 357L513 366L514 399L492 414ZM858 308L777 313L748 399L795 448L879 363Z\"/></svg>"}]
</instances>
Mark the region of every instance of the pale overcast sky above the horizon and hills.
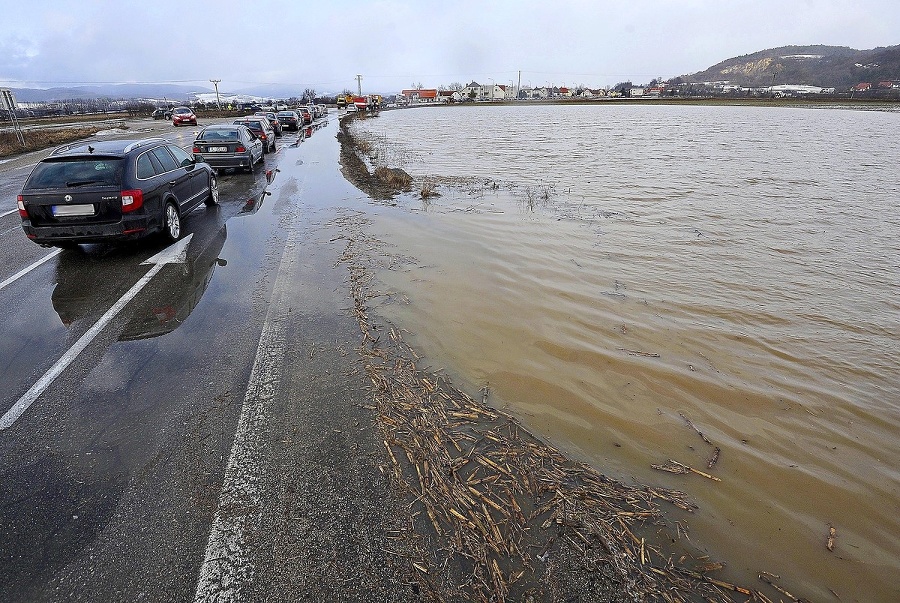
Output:
<instances>
[{"instance_id":1,"label":"pale overcast sky above the horizon and hills","mask_svg":"<svg viewBox=\"0 0 900 603\"><path fill-rule=\"evenodd\" d=\"M900 44L900 0L0 0L0 86L611 86L786 45Z\"/></svg>"}]
</instances>

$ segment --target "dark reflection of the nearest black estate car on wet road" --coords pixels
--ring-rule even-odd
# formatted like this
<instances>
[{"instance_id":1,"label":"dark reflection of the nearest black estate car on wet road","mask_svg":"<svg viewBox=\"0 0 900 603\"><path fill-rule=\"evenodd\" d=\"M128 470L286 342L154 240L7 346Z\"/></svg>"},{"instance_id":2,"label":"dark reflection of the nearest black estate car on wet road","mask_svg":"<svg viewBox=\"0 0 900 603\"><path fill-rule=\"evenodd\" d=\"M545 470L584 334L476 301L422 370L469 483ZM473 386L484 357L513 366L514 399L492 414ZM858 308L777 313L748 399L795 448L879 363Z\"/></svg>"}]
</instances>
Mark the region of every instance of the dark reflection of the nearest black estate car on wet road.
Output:
<instances>
[{"instance_id":1,"label":"dark reflection of the nearest black estate car on wet road","mask_svg":"<svg viewBox=\"0 0 900 603\"><path fill-rule=\"evenodd\" d=\"M209 225L215 226L215 225ZM194 310L212 280L225 245L225 224L199 229L188 243L183 264L169 264L122 311L120 341L159 337L174 331ZM138 256L91 258L72 252L59 256L53 309L66 326L96 321L149 269Z\"/></svg>"}]
</instances>

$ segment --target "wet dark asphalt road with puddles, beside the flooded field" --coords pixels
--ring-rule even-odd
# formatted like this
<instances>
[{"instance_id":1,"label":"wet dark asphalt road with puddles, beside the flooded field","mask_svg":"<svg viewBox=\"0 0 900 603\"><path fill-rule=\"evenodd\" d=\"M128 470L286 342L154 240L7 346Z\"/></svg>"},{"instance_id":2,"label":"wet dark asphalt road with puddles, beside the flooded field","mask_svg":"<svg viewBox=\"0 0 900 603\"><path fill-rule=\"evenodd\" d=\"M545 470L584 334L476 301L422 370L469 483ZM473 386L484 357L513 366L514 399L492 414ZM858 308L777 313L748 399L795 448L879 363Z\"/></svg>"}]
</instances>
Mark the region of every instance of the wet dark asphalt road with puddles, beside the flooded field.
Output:
<instances>
[{"instance_id":1,"label":"wet dark asphalt road with puddles, beside the flooded field","mask_svg":"<svg viewBox=\"0 0 900 603\"><path fill-rule=\"evenodd\" d=\"M0 600L409 598L378 552L397 518L337 265L365 198L336 121L220 175L158 268L158 241L34 245L11 210L43 154L0 164Z\"/></svg>"}]
</instances>

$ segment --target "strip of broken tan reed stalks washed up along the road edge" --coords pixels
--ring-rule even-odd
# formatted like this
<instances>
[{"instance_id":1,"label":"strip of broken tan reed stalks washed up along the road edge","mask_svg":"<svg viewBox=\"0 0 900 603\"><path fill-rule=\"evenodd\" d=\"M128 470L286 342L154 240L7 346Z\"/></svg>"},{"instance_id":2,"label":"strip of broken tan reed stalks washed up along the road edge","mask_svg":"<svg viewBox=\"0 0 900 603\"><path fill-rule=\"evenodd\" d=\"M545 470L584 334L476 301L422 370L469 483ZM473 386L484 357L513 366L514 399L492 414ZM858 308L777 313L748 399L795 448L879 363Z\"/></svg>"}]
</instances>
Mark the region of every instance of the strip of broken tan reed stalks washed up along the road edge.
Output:
<instances>
[{"instance_id":1,"label":"strip of broken tan reed stalks washed up along the road edge","mask_svg":"<svg viewBox=\"0 0 900 603\"><path fill-rule=\"evenodd\" d=\"M674 539L658 532L675 532L662 506L696 508L683 492L625 484L568 459L484 404L486 389L475 400L418 366L399 329L368 307L381 296L370 267L395 260L364 236L358 215L335 225L347 234L342 261L385 472L408 497L410 534L418 535L409 536L417 553L410 575L423 600L729 602L733 593L768 600L707 575L721 564L691 570L681 564L687 555L676 562L661 548Z\"/></svg>"}]
</instances>

